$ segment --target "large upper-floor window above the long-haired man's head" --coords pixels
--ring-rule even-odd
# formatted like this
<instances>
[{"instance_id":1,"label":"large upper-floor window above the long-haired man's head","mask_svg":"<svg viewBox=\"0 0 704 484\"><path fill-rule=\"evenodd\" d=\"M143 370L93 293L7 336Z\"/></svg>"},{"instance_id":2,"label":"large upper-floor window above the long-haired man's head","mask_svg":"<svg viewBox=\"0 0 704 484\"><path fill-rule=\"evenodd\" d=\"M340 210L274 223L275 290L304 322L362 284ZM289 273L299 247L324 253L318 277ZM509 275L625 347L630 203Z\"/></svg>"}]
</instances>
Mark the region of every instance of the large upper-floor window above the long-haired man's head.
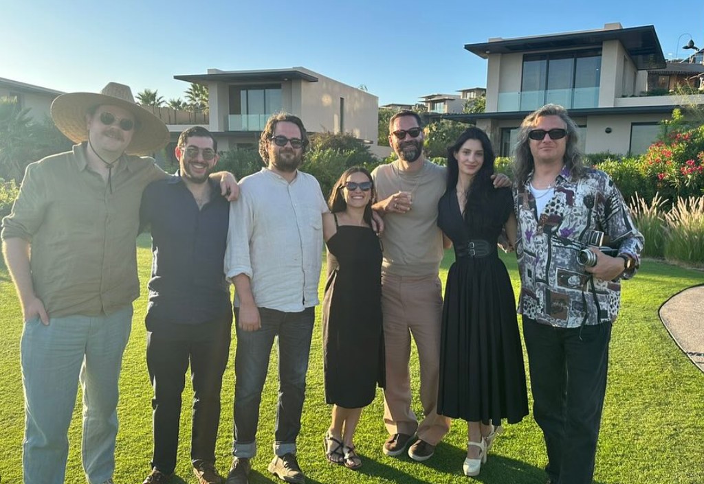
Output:
<instances>
[{"instance_id":1,"label":"large upper-floor window above the long-haired man's head","mask_svg":"<svg viewBox=\"0 0 704 484\"><path fill-rule=\"evenodd\" d=\"M601 51L524 56L520 110L545 103L594 108L599 101Z\"/></svg>"}]
</instances>

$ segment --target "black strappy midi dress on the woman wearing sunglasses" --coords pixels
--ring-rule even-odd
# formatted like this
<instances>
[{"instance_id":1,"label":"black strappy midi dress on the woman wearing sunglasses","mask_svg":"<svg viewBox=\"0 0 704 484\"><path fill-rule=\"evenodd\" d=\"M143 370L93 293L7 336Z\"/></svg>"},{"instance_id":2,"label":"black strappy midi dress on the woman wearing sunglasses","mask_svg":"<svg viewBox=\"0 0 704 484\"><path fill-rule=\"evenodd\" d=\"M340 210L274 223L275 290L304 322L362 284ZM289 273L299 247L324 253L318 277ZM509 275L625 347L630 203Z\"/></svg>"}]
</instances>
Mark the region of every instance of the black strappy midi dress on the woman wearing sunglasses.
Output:
<instances>
[{"instance_id":1,"label":"black strappy midi dress on the woman wearing sunglasses","mask_svg":"<svg viewBox=\"0 0 704 484\"><path fill-rule=\"evenodd\" d=\"M327 249L325 400L344 408L365 407L374 400L377 384L384 387L382 249L372 229L349 225L337 227Z\"/></svg>"}]
</instances>

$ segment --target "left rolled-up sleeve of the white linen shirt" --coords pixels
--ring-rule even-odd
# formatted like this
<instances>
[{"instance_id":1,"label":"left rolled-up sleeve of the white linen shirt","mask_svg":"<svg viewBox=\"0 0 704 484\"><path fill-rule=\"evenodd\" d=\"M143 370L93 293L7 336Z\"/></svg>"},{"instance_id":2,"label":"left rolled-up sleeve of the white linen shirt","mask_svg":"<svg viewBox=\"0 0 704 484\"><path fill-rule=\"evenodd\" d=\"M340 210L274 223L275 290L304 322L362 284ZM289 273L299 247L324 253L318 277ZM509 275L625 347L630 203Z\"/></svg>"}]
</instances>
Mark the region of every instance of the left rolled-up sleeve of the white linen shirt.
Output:
<instances>
[{"instance_id":1,"label":"left rolled-up sleeve of the white linen shirt","mask_svg":"<svg viewBox=\"0 0 704 484\"><path fill-rule=\"evenodd\" d=\"M245 190L244 193L241 192L239 200L230 202L230 221L227 229L227 248L225 248L225 276L230 282L239 274L246 274L249 279L252 278L249 241L253 220L251 201Z\"/></svg>"}]
</instances>

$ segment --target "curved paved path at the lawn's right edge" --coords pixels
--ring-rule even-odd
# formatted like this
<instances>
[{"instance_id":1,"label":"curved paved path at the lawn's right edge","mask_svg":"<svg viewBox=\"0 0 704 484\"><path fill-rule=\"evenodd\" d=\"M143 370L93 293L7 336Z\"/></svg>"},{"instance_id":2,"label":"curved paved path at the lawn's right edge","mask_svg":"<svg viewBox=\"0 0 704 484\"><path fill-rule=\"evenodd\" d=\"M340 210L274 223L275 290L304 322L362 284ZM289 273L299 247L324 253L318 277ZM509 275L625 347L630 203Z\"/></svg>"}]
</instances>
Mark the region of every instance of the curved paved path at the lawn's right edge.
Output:
<instances>
[{"instance_id":1,"label":"curved paved path at the lawn's right edge","mask_svg":"<svg viewBox=\"0 0 704 484\"><path fill-rule=\"evenodd\" d=\"M686 288L660 306L660 320L675 343L704 371L704 284Z\"/></svg>"}]
</instances>

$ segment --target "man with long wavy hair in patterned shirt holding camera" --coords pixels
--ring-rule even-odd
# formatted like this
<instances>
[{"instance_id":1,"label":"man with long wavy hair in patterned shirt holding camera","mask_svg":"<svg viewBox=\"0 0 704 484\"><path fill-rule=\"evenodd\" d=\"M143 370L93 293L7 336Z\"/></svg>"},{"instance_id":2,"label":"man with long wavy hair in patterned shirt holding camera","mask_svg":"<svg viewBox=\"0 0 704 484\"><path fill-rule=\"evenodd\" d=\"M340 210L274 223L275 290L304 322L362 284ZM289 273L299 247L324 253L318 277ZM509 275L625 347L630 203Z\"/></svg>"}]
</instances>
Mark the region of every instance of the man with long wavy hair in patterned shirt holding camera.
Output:
<instances>
[{"instance_id":1,"label":"man with long wavy hair in patterned shirt holding camera","mask_svg":"<svg viewBox=\"0 0 704 484\"><path fill-rule=\"evenodd\" d=\"M546 471L553 484L589 484L611 325L621 281L639 267L643 236L608 175L584 167L577 125L562 106L523 120L515 172L518 311Z\"/></svg>"}]
</instances>

